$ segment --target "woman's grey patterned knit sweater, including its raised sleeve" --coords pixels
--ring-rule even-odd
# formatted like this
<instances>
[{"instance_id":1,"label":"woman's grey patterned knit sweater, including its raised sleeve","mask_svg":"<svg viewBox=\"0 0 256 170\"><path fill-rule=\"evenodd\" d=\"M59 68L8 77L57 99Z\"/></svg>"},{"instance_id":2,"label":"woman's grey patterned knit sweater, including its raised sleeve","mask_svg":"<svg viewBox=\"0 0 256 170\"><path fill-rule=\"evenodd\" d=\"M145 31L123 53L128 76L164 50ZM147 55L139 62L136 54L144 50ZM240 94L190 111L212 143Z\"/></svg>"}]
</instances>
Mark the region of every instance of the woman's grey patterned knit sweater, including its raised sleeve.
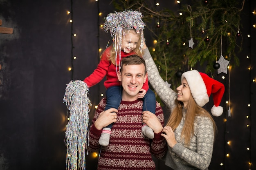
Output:
<instances>
[{"instance_id":1,"label":"woman's grey patterned knit sweater, including its raised sleeve","mask_svg":"<svg viewBox=\"0 0 256 170\"><path fill-rule=\"evenodd\" d=\"M160 77L148 49L144 49L143 58L146 61L148 81L162 101L172 110L175 107L177 93ZM196 116L190 146L185 147L184 140L181 139L185 114L183 110L182 120L174 131L177 144L173 148L168 146L168 152L164 158L165 164L174 170L208 170L213 152L213 124L209 117Z\"/></svg>"}]
</instances>

